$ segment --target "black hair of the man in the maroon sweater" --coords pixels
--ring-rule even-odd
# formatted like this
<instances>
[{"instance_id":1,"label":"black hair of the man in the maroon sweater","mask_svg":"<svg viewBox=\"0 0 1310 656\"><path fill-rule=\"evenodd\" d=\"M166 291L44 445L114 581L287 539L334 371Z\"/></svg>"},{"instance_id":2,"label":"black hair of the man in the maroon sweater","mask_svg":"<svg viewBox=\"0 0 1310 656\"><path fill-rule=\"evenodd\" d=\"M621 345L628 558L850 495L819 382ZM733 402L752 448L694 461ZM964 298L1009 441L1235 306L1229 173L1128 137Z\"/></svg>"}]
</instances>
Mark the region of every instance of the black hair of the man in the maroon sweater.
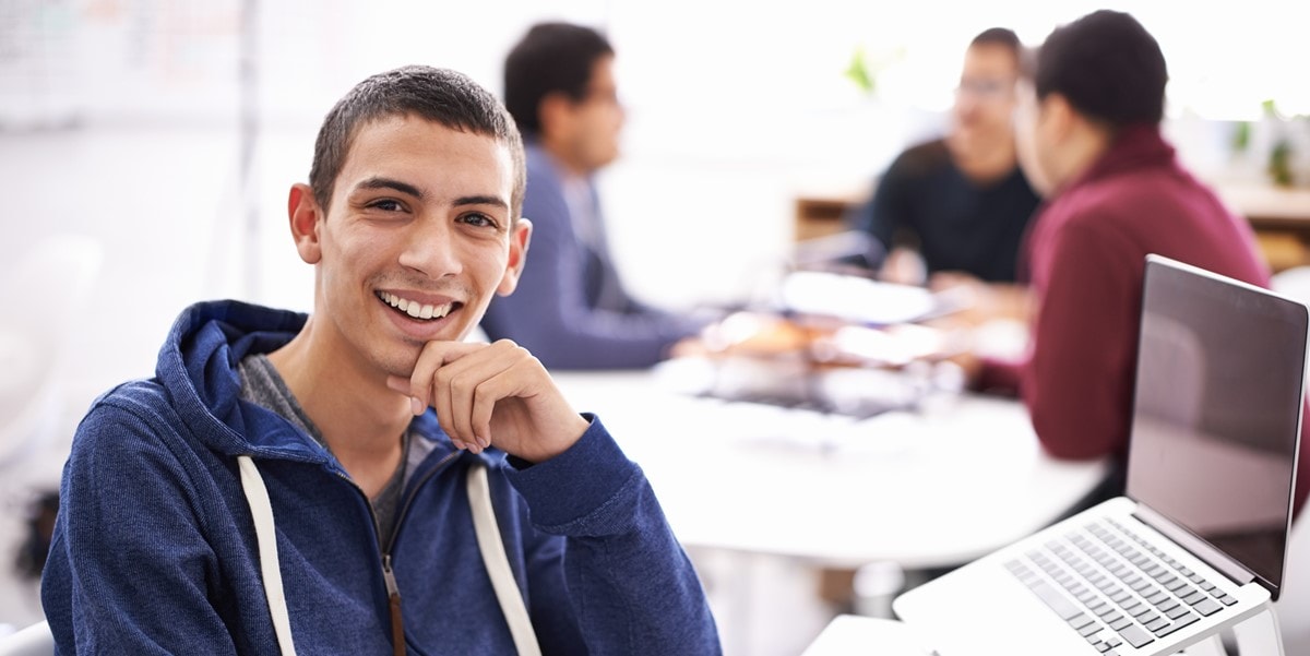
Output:
<instances>
[{"instance_id":1,"label":"black hair of the man in the maroon sweater","mask_svg":"<svg viewBox=\"0 0 1310 656\"><path fill-rule=\"evenodd\" d=\"M1032 77L1038 98L1058 93L1115 130L1165 117L1165 55L1127 13L1102 9L1056 27L1038 50Z\"/></svg>"}]
</instances>

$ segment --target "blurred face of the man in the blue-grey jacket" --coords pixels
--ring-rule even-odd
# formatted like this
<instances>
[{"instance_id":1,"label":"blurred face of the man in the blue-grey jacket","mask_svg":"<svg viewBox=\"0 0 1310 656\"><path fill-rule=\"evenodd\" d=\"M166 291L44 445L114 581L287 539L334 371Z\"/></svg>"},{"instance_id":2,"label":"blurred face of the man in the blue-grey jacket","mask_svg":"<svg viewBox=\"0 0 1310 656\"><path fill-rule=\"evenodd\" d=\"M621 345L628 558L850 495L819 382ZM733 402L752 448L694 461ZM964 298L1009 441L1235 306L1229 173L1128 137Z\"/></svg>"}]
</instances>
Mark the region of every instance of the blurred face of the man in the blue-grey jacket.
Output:
<instances>
[{"instance_id":1,"label":"blurred face of the man in the blue-grey jacket","mask_svg":"<svg viewBox=\"0 0 1310 656\"><path fill-rule=\"evenodd\" d=\"M570 103L569 114L566 148L576 168L591 172L618 157L624 107L618 103L613 56L603 56L592 64L587 93Z\"/></svg>"}]
</instances>

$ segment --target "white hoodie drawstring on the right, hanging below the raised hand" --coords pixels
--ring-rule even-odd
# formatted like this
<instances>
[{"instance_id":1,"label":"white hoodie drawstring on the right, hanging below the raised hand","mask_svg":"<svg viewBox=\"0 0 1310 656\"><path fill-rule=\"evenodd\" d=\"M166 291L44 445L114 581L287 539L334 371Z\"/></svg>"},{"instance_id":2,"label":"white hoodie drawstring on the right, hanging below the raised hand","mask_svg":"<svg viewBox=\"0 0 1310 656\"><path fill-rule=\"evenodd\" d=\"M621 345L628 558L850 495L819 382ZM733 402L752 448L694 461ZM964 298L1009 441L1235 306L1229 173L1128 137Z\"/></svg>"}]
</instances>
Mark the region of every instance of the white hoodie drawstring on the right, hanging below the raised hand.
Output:
<instances>
[{"instance_id":1,"label":"white hoodie drawstring on the right, hanging below the raised hand","mask_svg":"<svg viewBox=\"0 0 1310 656\"><path fill-rule=\"evenodd\" d=\"M495 511L491 509L487 470L481 464L469 467L468 490L469 507L473 509L473 533L478 537L482 563L491 576L491 588L510 625L514 644L519 649L519 656L541 656L537 634L532 630L532 618L528 617L528 606L523 602L519 585L514 581L514 571L510 570L510 558L504 554L504 545L500 543L500 528L495 521Z\"/></svg>"}]
</instances>

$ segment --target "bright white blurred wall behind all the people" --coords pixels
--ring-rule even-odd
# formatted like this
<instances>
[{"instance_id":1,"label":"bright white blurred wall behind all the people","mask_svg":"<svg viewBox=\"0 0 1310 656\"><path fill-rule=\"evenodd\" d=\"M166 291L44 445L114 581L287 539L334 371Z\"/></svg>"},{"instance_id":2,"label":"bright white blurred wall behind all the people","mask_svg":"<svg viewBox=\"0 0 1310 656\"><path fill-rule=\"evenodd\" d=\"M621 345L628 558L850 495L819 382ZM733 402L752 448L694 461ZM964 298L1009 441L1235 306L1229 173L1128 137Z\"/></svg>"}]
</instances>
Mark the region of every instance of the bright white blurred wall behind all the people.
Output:
<instances>
[{"instance_id":1,"label":"bright white blurred wall behind all the people","mask_svg":"<svg viewBox=\"0 0 1310 656\"><path fill-rule=\"evenodd\" d=\"M930 134L972 34L1010 25L1035 43L1095 7L249 3L258 7L252 88L261 123L244 187L242 4L20 1L0 9L0 128L8 128L0 189L10 210L0 217L10 236L0 255L56 229L105 240L94 302L115 319L98 314L103 337L81 344L97 344L84 354L93 369L106 369L97 385L147 371L169 317L193 299L308 309L310 271L286 237L286 189L308 174L322 114L368 73L432 63L498 92L503 52L529 24L565 18L607 29L630 113L625 157L601 178L614 249L638 292L688 305L740 296L761 266L777 262L798 191L859 186L900 147ZM1303 76L1289 68L1305 60L1296 34L1305 9L1255 0L1192 7L1182 21L1170 3L1117 4L1155 30L1171 56L1175 114L1231 118L1275 96L1302 106ZM876 98L842 76L857 47L886 64ZM1213 130L1189 134L1214 152ZM117 346L100 348L106 343Z\"/></svg>"}]
</instances>

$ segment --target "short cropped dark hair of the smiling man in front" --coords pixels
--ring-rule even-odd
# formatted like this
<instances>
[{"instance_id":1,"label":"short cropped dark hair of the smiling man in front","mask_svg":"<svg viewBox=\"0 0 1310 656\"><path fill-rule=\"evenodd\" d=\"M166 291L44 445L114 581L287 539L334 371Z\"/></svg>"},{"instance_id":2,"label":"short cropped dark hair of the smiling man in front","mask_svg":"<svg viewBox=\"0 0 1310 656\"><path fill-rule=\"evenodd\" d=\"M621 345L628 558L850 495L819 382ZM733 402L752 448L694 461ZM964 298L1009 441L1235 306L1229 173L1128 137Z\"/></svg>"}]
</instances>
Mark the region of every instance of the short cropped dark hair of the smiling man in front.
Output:
<instances>
[{"instance_id":1,"label":"short cropped dark hair of the smiling man in front","mask_svg":"<svg viewBox=\"0 0 1310 656\"><path fill-rule=\"evenodd\" d=\"M451 130L490 136L510 148L515 181L510 198L517 219L527 187L523 137L514 119L490 92L464 73L426 65L406 65L359 82L333 106L318 128L309 186L328 211L337 175L359 128L390 117L418 117Z\"/></svg>"}]
</instances>

